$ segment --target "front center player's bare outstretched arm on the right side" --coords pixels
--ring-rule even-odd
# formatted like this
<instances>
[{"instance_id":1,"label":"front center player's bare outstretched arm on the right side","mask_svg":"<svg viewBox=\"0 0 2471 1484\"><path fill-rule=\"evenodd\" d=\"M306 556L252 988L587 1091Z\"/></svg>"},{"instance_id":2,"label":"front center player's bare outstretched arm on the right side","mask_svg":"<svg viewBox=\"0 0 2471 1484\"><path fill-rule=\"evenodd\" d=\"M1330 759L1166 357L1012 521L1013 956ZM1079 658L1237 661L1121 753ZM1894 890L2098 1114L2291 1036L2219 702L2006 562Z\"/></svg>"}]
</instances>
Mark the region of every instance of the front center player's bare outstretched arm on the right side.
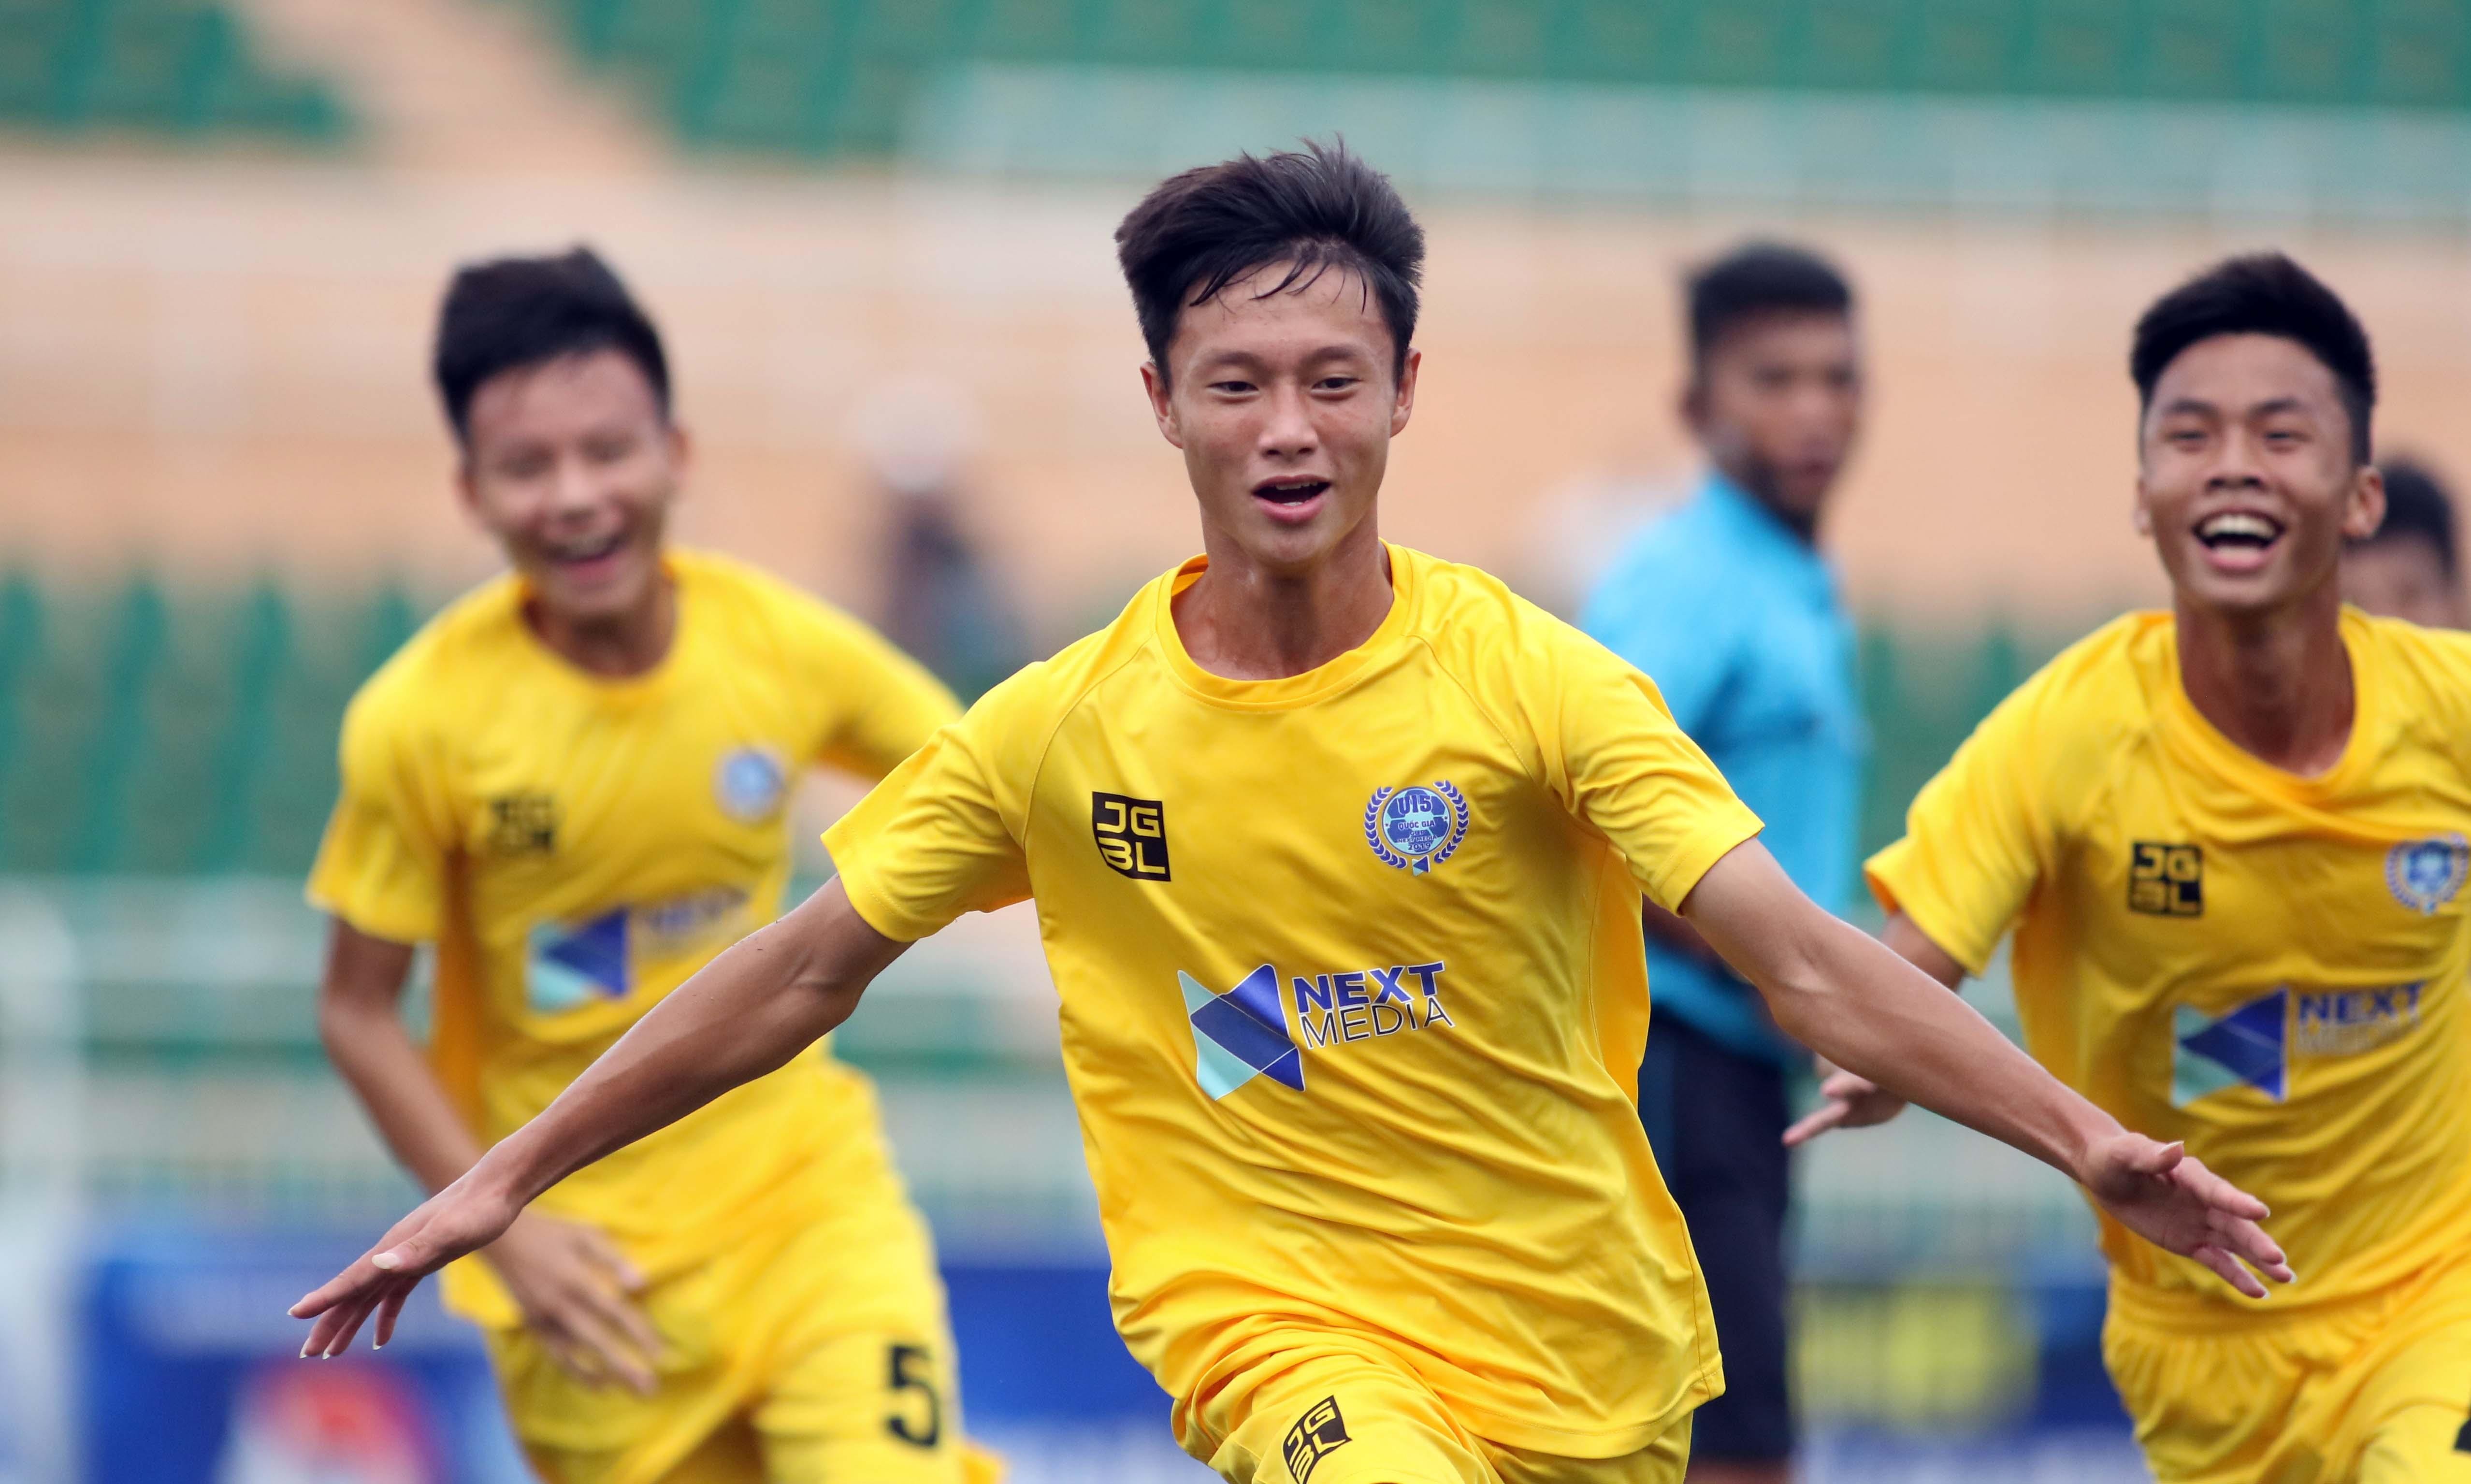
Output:
<instances>
[{"instance_id":1,"label":"front center player's bare outstretched arm on the right side","mask_svg":"<svg viewBox=\"0 0 2471 1484\"><path fill-rule=\"evenodd\" d=\"M2063 1170L2125 1227L2251 1299L2266 1296L2256 1274L2291 1282L2256 1225L2261 1200L2068 1091L1962 998L1821 911L1757 840L1700 877L1683 916L1829 1062Z\"/></svg>"}]
</instances>

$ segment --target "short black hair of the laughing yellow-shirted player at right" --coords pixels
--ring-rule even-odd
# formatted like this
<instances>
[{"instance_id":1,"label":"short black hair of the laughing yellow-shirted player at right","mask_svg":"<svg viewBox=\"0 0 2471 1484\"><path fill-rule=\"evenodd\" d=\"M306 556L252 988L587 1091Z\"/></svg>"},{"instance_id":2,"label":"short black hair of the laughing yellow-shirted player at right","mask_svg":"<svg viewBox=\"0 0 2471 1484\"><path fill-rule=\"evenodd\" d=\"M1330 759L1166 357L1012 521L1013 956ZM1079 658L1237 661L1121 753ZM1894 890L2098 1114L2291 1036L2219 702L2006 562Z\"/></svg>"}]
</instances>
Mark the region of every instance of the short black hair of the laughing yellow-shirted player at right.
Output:
<instances>
[{"instance_id":1,"label":"short black hair of the laughing yellow-shirted player at right","mask_svg":"<svg viewBox=\"0 0 2471 1484\"><path fill-rule=\"evenodd\" d=\"M2370 457L2370 417L2377 410L2377 358L2367 348L2360 316L2323 279L2281 252L2226 257L2137 319L2128 348L2128 375L2137 383L2137 410L2155 405L2155 383L2182 351L2214 336L2281 336L2298 341L2333 373L2343 410L2350 412L2350 459Z\"/></svg>"}]
</instances>

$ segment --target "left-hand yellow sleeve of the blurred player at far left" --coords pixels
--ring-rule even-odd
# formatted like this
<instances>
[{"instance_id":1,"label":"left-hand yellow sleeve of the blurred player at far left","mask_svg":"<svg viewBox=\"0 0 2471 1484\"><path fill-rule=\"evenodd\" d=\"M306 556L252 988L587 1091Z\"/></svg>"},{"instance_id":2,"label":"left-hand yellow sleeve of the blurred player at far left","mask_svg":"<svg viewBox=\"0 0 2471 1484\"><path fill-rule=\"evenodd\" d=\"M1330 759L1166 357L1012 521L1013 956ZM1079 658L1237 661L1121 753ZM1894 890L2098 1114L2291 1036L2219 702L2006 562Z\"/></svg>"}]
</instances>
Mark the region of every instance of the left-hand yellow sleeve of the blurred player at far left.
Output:
<instances>
[{"instance_id":1,"label":"left-hand yellow sleeve of the blurred player at far left","mask_svg":"<svg viewBox=\"0 0 2471 1484\"><path fill-rule=\"evenodd\" d=\"M309 904L373 938L435 941L455 810L445 770L423 748L415 714L390 677L353 696L339 763L343 788L309 869Z\"/></svg>"}]
</instances>

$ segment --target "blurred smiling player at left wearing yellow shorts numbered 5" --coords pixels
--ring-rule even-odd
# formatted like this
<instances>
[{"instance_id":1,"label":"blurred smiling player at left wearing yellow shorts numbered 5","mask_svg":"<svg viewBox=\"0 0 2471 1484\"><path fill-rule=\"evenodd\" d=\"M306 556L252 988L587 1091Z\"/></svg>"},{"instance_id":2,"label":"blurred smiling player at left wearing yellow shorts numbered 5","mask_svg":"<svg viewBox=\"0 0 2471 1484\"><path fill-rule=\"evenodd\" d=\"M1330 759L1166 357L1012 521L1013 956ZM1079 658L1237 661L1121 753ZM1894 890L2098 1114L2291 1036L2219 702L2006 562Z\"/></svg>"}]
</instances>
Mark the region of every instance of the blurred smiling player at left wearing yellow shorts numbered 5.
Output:
<instances>
[{"instance_id":1,"label":"blurred smiling player at left wearing yellow shorts numbered 5","mask_svg":"<svg viewBox=\"0 0 2471 1484\"><path fill-rule=\"evenodd\" d=\"M435 373L514 570L353 699L309 899L326 1049L442 1190L771 921L803 768L880 778L959 706L857 620L667 546L687 435L591 252L460 272ZM437 946L427 1057L398 1017L413 943ZM554 1484L964 1479L944 1289L875 1091L781 1062L447 1269Z\"/></svg>"}]
</instances>

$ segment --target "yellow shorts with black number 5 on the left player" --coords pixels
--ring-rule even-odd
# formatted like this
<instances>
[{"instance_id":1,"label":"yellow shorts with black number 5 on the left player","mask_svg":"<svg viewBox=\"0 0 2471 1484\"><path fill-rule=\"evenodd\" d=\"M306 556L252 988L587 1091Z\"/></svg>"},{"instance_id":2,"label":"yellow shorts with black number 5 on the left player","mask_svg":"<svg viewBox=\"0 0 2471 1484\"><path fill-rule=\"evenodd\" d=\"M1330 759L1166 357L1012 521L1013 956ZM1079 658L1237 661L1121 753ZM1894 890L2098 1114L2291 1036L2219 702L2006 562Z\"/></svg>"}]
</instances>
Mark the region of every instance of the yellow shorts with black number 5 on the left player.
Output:
<instances>
[{"instance_id":1,"label":"yellow shorts with black number 5 on the left player","mask_svg":"<svg viewBox=\"0 0 2471 1484\"><path fill-rule=\"evenodd\" d=\"M961 1440L944 1282L909 1205L852 1203L655 1282L660 1388L576 1380L492 1328L507 1415L551 1484L986 1484Z\"/></svg>"}]
</instances>

